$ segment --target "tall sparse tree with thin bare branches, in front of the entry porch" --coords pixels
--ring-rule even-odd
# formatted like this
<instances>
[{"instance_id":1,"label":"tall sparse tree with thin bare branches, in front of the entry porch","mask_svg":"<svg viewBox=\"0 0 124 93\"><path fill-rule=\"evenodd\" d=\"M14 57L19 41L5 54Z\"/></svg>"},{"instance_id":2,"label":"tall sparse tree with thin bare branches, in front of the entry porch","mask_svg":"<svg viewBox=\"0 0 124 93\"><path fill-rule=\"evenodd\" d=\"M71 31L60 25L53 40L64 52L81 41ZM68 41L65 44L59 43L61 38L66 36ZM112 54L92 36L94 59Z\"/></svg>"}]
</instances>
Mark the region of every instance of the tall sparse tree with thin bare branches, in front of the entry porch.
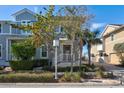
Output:
<instances>
[{"instance_id":1,"label":"tall sparse tree with thin bare branches, in front of the entry porch","mask_svg":"<svg viewBox=\"0 0 124 93\"><path fill-rule=\"evenodd\" d=\"M73 55L76 52L77 47L75 40L76 34L80 35L78 37L80 42L80 56L82 56L82 46L83 46L83 33L81 30L82 24L85 24L89 19L90 15L86 14L86 6L64 6L60 9L59 15L61 16L62 21L60 24L64 27L64 32L66 33L69 40L73 42ZM80 57L81 64L81 57ZM71 73L73 72L73 61L71 62Z\"/></svg>"}]
</instances>

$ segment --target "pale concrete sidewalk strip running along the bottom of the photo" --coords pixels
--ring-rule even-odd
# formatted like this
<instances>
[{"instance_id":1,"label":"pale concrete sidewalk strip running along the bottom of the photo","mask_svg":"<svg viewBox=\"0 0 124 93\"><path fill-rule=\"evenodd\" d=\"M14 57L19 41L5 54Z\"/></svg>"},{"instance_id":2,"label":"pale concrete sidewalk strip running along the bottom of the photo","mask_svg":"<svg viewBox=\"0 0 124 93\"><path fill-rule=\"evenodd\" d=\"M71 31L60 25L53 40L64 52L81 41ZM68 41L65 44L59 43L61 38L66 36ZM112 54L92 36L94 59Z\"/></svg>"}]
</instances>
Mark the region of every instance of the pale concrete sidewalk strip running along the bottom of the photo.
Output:
<instances>
[{"instance_id":1,"label":"pale concrete sidewalk strip running along the bottom of the photo","mask_svg":"<svg viewBox=\"0 0 124 93\"><path fill-rule=\"evenodd\" d=\"M0 88L100 88L124 87L117 80L85 80L83 83L0 83Z\"/></svg>"}]
</instances>

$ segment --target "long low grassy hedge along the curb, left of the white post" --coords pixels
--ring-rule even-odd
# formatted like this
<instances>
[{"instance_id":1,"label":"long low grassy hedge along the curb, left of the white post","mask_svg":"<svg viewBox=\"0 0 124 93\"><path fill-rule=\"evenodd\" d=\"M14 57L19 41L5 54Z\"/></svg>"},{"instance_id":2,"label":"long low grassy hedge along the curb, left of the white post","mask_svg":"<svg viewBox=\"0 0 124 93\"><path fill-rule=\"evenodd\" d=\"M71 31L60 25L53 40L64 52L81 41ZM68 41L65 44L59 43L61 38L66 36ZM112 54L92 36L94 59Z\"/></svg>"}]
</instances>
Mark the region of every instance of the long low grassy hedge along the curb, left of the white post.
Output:
<instances>
[{"instance_id":1,"label":"long low grassy hedge along the curb, left of the white post","mask_svg":"<svg viewBox=\"0 0 124 93\"><path fill-rule=\"evenodd\" d=\"M55 82L54 75L50 72L46 73L11 73L0 75L0 82L4 83L39 83L39 82Z\"/></svg>"}]
</instances>

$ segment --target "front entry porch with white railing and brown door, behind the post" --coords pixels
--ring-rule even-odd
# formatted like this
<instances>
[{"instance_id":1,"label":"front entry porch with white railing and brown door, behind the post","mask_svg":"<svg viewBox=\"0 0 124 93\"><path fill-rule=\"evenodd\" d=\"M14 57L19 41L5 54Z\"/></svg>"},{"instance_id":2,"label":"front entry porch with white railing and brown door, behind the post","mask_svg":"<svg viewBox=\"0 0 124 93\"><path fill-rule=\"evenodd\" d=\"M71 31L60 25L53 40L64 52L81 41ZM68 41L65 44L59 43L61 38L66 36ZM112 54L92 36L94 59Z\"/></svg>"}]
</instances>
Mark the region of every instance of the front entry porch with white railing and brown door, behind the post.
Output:
<instances>
[{"instance_id":1,"label":"front entry porch with white railing and brown door, behind the post","mask_svg":"<svg viewBox=\"0 0 124 93\"><path fill-rule=\"evenodd\" d=\"M79 66L79 52L76 51L74 53L73 49L73 42L70 40L66 40L62 43L60 43L60 46L58 47L58 56L57 56L57 62L59 67L66 67L71 66L71 63L73 63L74 66ZM53 66L54 66L54 58L53 58Z\"/></svg>"}]
</instances>

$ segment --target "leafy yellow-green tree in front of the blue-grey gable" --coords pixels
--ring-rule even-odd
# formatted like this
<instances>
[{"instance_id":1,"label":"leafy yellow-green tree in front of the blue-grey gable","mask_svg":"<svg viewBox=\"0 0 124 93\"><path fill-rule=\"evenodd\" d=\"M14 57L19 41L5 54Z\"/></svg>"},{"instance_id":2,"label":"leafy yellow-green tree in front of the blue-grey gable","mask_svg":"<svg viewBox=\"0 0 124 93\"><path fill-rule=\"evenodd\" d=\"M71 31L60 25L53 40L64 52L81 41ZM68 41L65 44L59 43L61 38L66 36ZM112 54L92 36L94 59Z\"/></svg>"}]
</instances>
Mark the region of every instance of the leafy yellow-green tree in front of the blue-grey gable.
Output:
<instances>
[{"instance_id":1,"label":"leafy yellow-green tree in front of the blue-grey gable","mask_svg":"<svg viewBox=\"0 0 124 93\"><path fill-rule=\"evenodd\" d=\"M32 25L16 25L12 24L13 28L24 31L31 31L32 36L28 37L35 47L40 47L42 44L52 42L54 38L54 29L57 21L54 18L54 6L43 8L46 11L44 14L36 14L37 21Z\"/></svg>"}]
</instances>

